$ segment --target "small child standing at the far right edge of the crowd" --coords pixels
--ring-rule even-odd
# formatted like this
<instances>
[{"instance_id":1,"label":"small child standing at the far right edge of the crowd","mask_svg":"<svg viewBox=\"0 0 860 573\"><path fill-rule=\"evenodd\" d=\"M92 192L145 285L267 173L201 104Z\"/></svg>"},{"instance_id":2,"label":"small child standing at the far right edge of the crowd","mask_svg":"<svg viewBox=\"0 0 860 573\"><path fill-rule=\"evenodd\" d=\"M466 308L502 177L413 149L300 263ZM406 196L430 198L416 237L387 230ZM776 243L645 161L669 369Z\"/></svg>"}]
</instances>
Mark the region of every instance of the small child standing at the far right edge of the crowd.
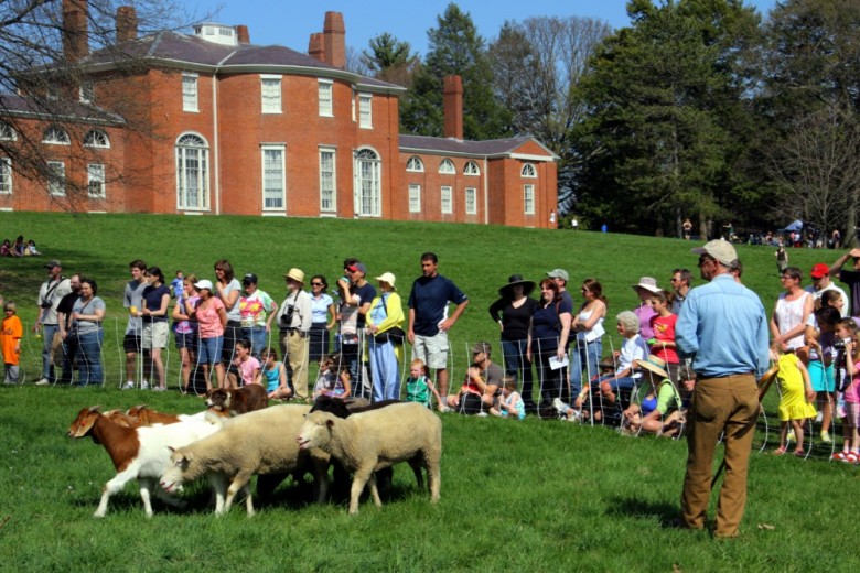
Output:
<instances>
[{"instance_id":1,"label":"small child standing at the far right edge of the crowd","mask_svg":"<svg viewBox=\"0 0 860 573\"><path fill-rule=\"evenodd\" d=\"M840 321L836 335L845 344L837 364L845 361L846 378L842 382L845 415L842 417L842 451L832 458L849 464L860 463L860 440L857 428L860 425L860 352L857 344L857 323L853 318Z\"/></svg>"}]
</instances>

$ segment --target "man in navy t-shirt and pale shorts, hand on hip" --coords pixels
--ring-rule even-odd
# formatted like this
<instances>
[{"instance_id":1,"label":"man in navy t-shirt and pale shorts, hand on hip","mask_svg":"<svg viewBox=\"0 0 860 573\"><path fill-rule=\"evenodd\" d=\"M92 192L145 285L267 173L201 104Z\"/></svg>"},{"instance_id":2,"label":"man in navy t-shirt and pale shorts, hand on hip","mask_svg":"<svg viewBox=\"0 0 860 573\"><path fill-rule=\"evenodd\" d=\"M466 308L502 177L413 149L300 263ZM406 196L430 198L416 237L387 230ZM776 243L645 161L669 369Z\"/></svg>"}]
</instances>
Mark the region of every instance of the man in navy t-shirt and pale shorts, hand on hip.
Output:
<instances>
[{"instance_id":1,"label":"man in navy t-shirt and pale shorts, hand on hip","mask_svg":"<svg viewBox=\"0 0 860 573\"><path fill-rule=\"evenodd\" d=\"M429 369L437 371L439 394L448 396L448 331L463 314L469 298L450 279L437 272L439 259L433 252L421 255L423 274L412 283L409 293L409 329L406 333L412 345L412 359L421 359ZM456 306L448 316L448 304ZM444 399L444 398L443 398ZM439 404L440 410L447 407Z\"/></svg>"}]
</instances>

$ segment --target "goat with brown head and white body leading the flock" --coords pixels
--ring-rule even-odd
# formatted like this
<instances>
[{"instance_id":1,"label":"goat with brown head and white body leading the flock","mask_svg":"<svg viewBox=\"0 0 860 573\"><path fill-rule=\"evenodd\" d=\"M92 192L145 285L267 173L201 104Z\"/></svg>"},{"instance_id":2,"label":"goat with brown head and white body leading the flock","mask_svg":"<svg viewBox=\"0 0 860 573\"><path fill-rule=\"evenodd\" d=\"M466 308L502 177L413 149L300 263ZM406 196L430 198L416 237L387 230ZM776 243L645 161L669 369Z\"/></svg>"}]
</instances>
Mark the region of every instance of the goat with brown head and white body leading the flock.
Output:
<instances>
[{"instance_id":1,"label":"goat with brown head and white body leading the flock","mask_svg":"<svg viewBox=\"0 0 860 573\"><path fill-rule=\"evenodd\" d=\"M128 428L111 422L99 412L98 406L84 408L68 429L69 437L92 436L105 446L117 475L101 488L101 501L94 517L105 517L108 499L120 491L131 479L138 480L140 499L147 517L152 517L150 491L172 506L181 506L176 499L160 490L158 479L170 465L169 447L180 447L218 431L219 423L184 421L169 425Z\"/></svg>"}]
</instances>

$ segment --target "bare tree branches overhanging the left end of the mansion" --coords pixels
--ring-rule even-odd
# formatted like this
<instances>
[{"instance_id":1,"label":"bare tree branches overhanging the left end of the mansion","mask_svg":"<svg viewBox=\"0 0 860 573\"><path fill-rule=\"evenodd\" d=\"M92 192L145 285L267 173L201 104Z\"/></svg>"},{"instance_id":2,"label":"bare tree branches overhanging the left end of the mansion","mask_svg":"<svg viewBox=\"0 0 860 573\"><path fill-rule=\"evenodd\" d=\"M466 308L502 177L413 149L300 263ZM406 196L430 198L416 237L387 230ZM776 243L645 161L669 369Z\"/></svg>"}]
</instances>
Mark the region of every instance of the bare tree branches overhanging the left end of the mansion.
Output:
<instances>
[{"instance_id":1,"label":"bare tree branches overhanging the left end of the mansion","mask_svg":"<svg viewBox=\"0 0 860 573\"><path fill-rule=\"evenodd\" d=\"M57 179L52 156L42 143L39 121L83 140L89 126L123 126L143 130L136 120L137 104L110 82L130 75L146 63L146 53L126 50L129 34L186 25L173 0L7 0L0 2L0 156L15 173L49 184ZM90 56L92 54L92 56ZM114 64L95 72L97 60ZM98 89L95 89L96 84ZM116 85L117 83L114 83ZM96 99L94 96L98 94ZM142 132L142 131L141 131ZM86 147L68 148L69 159L86 163ZM108 167L107 176L111 176ZM121 174L112 172L112 176ZM64 207L87 192L87 182L68 187ZM52 198L57 202L58 199Z\"/></svg>"}]
</instances>

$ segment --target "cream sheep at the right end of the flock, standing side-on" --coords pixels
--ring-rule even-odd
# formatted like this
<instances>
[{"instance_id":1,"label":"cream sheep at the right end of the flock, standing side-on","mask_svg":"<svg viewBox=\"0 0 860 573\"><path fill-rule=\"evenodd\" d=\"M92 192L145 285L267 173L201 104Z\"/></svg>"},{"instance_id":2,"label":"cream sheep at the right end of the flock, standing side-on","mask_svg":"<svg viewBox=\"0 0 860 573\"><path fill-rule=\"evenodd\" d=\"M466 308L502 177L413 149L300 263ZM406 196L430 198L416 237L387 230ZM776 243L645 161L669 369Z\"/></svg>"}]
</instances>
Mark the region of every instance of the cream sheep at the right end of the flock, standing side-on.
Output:
<instances>
[{"instance_id":1,"label":"cream sheep at the right end of the flock, standing side-on","mask_svg":"<svg viewBox=\"0 0 860 573\"><path fill-rule=\"evenodd\" d=\"M422 404L391 404L350 418L313 412L308 414L297 441L302 450L320 448L353 472L350 513L358 512L358 497L365 485L369 485L376 506L381 507L374 472L398 462L409 462L419 487L424 467L430 501L439 501L442 422Z\"/></svg>"}]
</instances>

